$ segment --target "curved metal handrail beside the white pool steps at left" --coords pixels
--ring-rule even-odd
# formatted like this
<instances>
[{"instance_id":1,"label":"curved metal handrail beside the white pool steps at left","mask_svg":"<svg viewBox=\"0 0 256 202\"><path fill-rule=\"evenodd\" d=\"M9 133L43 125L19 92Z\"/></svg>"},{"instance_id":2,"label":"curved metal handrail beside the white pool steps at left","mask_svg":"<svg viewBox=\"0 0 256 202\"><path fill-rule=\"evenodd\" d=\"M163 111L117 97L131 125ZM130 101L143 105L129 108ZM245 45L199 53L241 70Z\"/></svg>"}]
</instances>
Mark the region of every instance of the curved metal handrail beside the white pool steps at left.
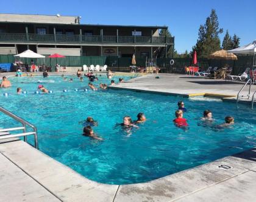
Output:
<instances>
[{"instance_id":1,"label":"curved metal handrail beside the white pool steps at left","mask_svg":"<svg viewBox=\"0 0 256 202\"><path fill-rule=\"evenodd\" d=\"M28 125L29 127L31 127L34 130L34 133L32 133L32 134L34 134L35 148L38 149L37 127L35 127L33 124L30 124L29 122L22 119L21 117L11 113L10 111L5 110L5 108L2 108L1 106L0 106L0 111L2 111L2 113L6 114L7 116L12 117L13 119L17 120L18 122L20 122L23 125L23 127L24 127L23 134L25 134L25 135L21 134L20 136L24 137L25 142L27 142L26 125Z\"/></svg>"}]
</instances>

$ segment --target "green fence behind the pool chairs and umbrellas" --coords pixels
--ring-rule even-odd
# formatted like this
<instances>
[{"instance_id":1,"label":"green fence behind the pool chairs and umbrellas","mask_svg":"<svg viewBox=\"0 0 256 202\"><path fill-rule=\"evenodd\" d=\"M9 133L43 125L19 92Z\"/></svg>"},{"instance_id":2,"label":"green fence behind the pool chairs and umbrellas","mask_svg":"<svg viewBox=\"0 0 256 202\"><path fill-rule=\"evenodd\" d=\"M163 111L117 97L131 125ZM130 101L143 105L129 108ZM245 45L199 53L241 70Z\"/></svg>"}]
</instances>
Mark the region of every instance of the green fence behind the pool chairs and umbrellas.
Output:
<instances>
[{"instance_id":1,"label":"green fence behind the pool chairs and umbrellas","mask_svg":"<svg viewBox=\"0 0 256 202\"><path fill-rule=\"evenodd\" d=\"M185 66L190 66L191 58L174 58L174 65L170 65L171 58L157 58L157 66L161 68L162 72L169 73L184 73ZM0 55L0 63L14 63L15 58L13 55ZM24 63L30 64L29 58L24 58ZM130 57L117 57L117 56L66 56L65 58L48 58L45 60L34 60L37 64L46 64L46 66L55 66L56 63L61 66L69 67L82 67L84 64L90 66L90 64L99 64L107 66L113 71L129 71L129 66L132 64L132 58ZM208 60L207 58L198 58L199 67L202 70L206 70L208 66L223 67L228 64L233 68L232 74L241 74L244 69L252 67L253 56L240 56L238 60ZM144 67L146 64L146 58L136 58L137 66Z\"/></svg>"}]
</instances>

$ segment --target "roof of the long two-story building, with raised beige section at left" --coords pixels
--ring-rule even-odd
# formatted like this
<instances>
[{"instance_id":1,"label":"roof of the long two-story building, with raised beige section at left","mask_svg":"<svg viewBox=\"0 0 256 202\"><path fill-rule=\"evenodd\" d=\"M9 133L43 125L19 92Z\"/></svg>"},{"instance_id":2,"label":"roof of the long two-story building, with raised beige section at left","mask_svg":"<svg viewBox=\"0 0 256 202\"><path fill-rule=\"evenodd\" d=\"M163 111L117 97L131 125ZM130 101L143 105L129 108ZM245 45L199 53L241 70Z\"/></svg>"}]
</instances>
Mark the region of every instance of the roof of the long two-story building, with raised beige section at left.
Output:
<instances>
[{"instance_id":1,"label":"roof of the long two-story building, with raised beige section at left","mask_svg":"<svg viewBox=\"0 0 256 202\"><path fill-rule=\"evenodd\" d=\"M59 16L57 15L29 15L29 14L4 14L0 13L0 23L32 23L32 24L56 24L73 26L91 26L91 27L132 27L132 28L151 28L168 29L168 26L138 26L138 25L115 25L115 24L79 24L75 19L79 16Z\"/></svg>"}]
</instances>

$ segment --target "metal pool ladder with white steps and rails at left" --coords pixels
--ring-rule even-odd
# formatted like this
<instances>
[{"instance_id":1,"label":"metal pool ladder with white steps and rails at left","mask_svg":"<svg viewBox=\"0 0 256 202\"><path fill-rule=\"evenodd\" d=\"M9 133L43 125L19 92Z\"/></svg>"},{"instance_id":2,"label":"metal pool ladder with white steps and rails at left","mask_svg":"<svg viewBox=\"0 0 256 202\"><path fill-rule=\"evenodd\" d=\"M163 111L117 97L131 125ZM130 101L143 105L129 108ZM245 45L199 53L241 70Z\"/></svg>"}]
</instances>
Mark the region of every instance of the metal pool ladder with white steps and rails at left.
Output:
<instances>
[{"instance_id":1,"label":"metal pool ladder with white steps and rails at left","mask_svg":"<svg viewBox=\"0 0 256 202\"><path fill-rule=\"evenodd\" d=\"M8 110L5 110L5 108L2 108L0 106L0 111L4 114L6 114L9 117L12 117L13 119L20 122L23 126L22 127L15 127L15 128L4 128L0 129L0 140L1 139L10 139L10 138L20 138L24 137L24 142L27 142L27 136L34 135L34 147L38 149L38 139L37 139L37 127L35 127L33 124L30 124L24 119L21 119L21 117L16 116L15 114L11 113ZM27 128L32 128L32 132L27 132ZM18 134L10 134L10 131L17 131L17 130L23 130L23 133Z\"/></svg>"}]
</instances>

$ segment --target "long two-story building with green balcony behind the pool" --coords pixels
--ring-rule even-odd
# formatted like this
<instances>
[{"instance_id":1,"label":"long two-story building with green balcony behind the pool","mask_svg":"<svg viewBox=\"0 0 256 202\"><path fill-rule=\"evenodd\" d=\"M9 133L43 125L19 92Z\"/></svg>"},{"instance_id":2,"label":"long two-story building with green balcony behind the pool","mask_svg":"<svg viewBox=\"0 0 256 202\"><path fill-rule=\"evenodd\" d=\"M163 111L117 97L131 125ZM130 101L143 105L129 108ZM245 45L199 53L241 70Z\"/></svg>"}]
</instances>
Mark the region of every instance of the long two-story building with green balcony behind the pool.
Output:
<instances>
[{"instance_id":1,"label":"long two-story building with green balcony behind the pool","mask_svg":"<svg viewBox=\"0 0 256 202\"><path fill-rule=\"evenodd\" d=\"M166 26L80 24L79 16L0 14L0 55L30 49L71 56L166 57Z\"/></svg>"}]
</instances>

